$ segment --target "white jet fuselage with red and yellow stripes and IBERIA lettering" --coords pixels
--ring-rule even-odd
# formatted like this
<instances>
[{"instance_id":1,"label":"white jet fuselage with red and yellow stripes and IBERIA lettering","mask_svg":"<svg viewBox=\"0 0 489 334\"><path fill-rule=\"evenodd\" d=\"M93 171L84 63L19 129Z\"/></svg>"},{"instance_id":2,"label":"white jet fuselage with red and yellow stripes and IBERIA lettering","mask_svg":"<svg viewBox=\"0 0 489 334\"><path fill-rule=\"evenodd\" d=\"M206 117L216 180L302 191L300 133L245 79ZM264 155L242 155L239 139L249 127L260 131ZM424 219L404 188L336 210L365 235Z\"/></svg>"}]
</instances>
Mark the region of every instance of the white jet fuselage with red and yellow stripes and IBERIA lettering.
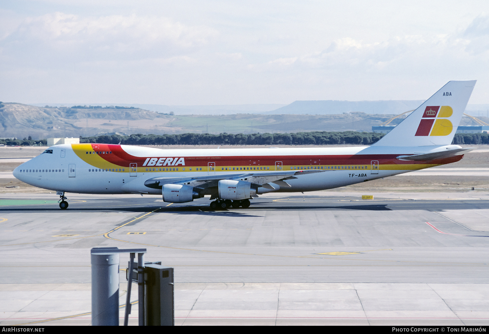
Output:
<instances>
[{"instance_id":1,"label":"white jet fuselage with red and yellow stripes and IBERIA lettering","mask_svg":"<svg viewBox=\"0 0 489 334\"><path fill-rule=\"evenodd\" d=\"M318 169L324 171L300 175L287 181L290 187L275 187L275 190L272 190L297 192L343 187L461 159L460 156L433 164L402 162L395 158L406 154L460 148L455 145L172 150L139 146L105 145L107 148L99 148L99 146L96 144L51 146L49 150L52 150L52 153L43 153L23 163L15 168L14 176L27 184L55 191L161 195L161 189L148 188L144 184L145 181L155 177L192 178L203 175L236 175L253 173L257 170ZM110 154L109 150L111 150ZM154 159L155 163L149 166L151 159ZM179 161L177 166L172 166L170 159L174 164ZM134 161L133 164L131 161ZM165 161L166 165L164 165ZM262 191L258 193L270 192L269 189L259 189Z\"/></svg>"}]
</instances>

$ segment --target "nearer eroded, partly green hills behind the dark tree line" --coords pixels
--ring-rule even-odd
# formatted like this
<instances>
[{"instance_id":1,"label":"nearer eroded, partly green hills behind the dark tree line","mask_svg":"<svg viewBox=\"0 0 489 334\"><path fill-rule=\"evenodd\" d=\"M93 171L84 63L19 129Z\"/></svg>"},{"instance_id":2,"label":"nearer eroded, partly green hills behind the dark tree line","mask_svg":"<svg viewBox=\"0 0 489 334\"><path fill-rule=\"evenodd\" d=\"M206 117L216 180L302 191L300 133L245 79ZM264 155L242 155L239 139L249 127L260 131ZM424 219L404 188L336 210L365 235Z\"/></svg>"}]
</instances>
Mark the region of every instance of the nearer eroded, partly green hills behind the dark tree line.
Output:
<instances>
[{"instance_id":1,"label":"nearer eroded, partly green hills behind the dark tree line","mask_svg":"<svg viewBox=\"0 0 489 334\"><path fill-rule=\"evenodd\" d=\"M321 101L318 101L321 102ZM103 134L179 134L179 133L292 133L309 131L372 131L373 125L396 114L342 112L338 114L246 114L168 115L140 108L39 107L3 103L0 107L0 137L33 139L49 137L90 137ZM404 111L407 111L406 104ZM281 109L281 108L279 108ZM277 109L277 110L279 110ZM406 110L407 109L407 110ZM289 110L290 111L290 110ZM397 114L400 114L398 112ZM392 121L397 125L405 115ZM489 118L481 117L489 123ZM461 125L475 125L468 117Z\"/></svg>"}]
</instances>

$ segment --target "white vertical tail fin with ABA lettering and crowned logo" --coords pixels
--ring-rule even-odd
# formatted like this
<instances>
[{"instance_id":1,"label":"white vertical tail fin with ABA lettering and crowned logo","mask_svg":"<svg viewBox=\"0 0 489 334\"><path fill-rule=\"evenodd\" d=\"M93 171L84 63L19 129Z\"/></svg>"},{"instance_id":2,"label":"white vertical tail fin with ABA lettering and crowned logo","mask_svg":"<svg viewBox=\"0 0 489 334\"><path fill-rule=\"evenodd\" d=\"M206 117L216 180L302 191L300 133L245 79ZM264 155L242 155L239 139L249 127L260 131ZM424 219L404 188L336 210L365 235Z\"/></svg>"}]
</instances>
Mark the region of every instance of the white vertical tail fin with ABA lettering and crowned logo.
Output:
<instances>
[{"instance_id":1,"label":"white vertical tail fin with ABA lettering and crowned logo","mask_svg":"<svg viewBox=\"0 0 489 334\"><path fill-rule=\"evenodd\" d=\"M449 81L375 146L450 145L476 80Z\"/></svg>"}]
</instances>

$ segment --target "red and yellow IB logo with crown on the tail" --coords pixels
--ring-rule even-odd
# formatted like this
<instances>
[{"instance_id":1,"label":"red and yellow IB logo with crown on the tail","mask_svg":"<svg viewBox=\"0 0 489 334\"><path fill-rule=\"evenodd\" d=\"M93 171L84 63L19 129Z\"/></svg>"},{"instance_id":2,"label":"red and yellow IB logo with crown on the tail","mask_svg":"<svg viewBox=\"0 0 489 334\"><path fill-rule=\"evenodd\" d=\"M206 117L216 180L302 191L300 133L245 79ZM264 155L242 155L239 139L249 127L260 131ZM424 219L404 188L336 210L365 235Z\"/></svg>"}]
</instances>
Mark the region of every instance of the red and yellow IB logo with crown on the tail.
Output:
<instances>
[{"instance_id":1,"label":"red and yellow IB logo with crown on the tail","mask_svg":"<svg viewBox=\"0 0 489 334\"><path fill-rule=\"evenodd\" d=\"M452 114L453 109L448 105L427 106L415 136L448 136L453 124L447 118Z\"/></svg>"}]
</instances>

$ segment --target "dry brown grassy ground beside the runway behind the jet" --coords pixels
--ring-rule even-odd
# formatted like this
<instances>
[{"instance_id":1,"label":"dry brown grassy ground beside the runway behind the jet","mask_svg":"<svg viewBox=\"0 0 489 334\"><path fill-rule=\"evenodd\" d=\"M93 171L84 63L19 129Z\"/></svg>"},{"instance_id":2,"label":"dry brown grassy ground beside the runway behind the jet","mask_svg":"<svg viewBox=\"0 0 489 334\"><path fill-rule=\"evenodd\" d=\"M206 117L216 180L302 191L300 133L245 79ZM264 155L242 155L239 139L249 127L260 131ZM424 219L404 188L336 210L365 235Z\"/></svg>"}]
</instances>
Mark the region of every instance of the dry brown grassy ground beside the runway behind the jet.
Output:
<instances>
[{"instance_id":1,"label":"dry brown grassy ground beside the runway behind the jet","mask_svg":"<svg viewBox=\"0 0 489 334\"><path fill-rule=\"evenodd\" d=\"M350 145L344 145L350 146ZM171 148L216 148L216 146L150 146L163 149ZM221 146L221 148L259 148L270 146ZM282 146L295 147L295 146ZM297 146L299 147L299 146ZM320 147L320 146L300 146L300 147ZM340 146L328 146L340 147ZM468 146L467 147L472 147ZM41 154L46 147L0 147L0 172L12 171L19 166L21 162L2 162L1 158L30 158ZM443 167L489 167L489 145L478 145L477 150L468 152L464 158L454 164L445 165ZM9 187L9 188L7 188ZM15 187L15 188L10 188ZM465 192L474 187L475 191L489 190L489 177L484 176L392 176L385 179L373 180L361 184L351 185L342 188L332 189L335 191L358 191L366 192L385 192L385 191L400 191L400 192ZM331 190L330 190L331 191ZM33 193L54 193L52 190L45 190L33 187L19 181L17 179L1 179L0 178L0 193L8 192L33 192Z\"/></svg>"}]
</instances>

